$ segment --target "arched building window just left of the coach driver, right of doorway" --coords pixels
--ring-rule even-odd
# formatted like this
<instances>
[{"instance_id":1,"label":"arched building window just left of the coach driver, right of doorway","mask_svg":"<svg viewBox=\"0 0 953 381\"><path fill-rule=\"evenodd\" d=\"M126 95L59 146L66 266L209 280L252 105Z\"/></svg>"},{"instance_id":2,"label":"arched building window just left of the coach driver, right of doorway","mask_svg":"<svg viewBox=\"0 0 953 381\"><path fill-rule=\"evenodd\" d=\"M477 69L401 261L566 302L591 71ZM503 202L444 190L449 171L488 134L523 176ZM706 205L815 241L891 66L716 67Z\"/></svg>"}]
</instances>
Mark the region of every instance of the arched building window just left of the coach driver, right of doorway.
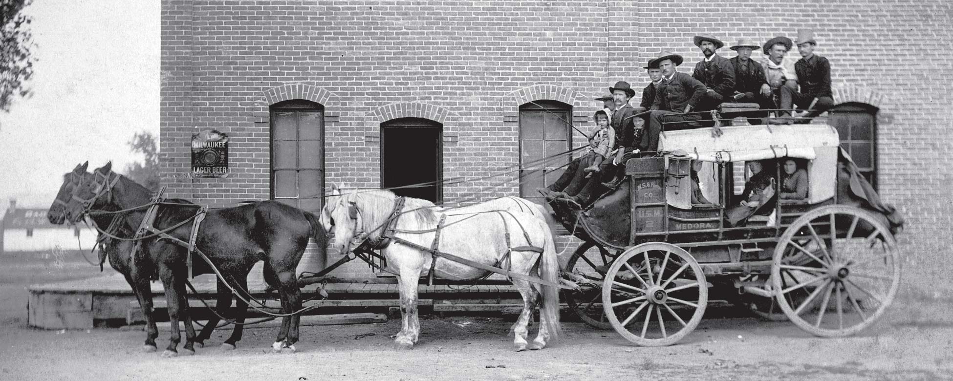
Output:
<instances>
[{"instance_id":1,"label":"arched building window just left of the coach driver, right of doorway","mask_svg":"<svg viewBox=\"0 0 953 381\"><path fill-rule=\"evenodd\" d=\"M540 100L519 107L519 196L544 204L537 188L552 184L572 156L573 107Z\"/></svg>"}]
</instances>

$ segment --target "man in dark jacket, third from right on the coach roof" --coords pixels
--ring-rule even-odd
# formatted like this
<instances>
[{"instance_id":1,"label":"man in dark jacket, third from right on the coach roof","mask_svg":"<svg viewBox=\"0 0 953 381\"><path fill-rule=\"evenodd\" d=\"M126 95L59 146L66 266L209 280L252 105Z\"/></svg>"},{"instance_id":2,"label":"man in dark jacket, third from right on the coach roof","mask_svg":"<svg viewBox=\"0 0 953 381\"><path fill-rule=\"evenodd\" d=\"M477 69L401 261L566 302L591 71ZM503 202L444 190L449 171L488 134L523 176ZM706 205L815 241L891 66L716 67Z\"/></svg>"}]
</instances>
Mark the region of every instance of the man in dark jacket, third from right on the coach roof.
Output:
<instances>
[{"instance_id":1,"label":"man in dark jacket, third from right on the coach roof","mask_svg":"<svg viewBox=\"0 0 953 381\"><path fill-rule=\"evenodd\" d=\"M729 60L735 67L735 94L732 98L735 102L757 103L761 110L777 109L778 106L771 100L771 86L768 85L767 77L764 76L764 69L751 59L751 51L759 48L750 38L741 38L738 40L738 45L729 48L738 51L738 55ZM767 111L759 115L767 116ZM754 125L761 124L760 119L749 119L749 121Z\"/></svg>"}]
</instances>

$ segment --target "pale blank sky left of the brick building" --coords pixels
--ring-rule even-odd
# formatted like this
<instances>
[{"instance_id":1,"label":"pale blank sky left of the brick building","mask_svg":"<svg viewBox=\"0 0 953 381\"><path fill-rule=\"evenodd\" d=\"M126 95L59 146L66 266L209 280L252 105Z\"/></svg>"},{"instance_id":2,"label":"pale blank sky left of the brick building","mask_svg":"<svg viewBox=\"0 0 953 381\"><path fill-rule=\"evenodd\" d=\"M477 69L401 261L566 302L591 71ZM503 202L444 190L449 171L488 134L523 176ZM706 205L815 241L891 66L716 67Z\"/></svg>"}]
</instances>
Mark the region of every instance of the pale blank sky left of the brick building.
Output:
<instances>
[{"instance_id":1,"label":"pale blank sky left of the brick building","mask_svg":"<svg viewBox=\"0 0 953 381\"><path fill-rule=\"evenodd\" d=\"M127 144L159 132L159 1L37 0L33 94L0 111L0 216L50 208L63 173L141 161Z\"/></svg>"}]
</instances>

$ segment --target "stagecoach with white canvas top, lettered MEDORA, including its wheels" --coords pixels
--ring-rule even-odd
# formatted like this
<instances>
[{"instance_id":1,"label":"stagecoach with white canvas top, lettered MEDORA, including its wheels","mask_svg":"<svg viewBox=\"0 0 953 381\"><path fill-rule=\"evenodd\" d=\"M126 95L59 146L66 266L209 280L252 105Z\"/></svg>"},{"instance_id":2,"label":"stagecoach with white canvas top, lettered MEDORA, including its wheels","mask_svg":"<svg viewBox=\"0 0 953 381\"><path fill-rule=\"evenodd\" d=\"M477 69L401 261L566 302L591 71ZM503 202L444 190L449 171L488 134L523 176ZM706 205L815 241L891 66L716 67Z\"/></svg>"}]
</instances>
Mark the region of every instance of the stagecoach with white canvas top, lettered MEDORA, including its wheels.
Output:
<instances>
[{"instance_id":1,"label":"stagecoach with white canvas top, lettered MEDORA, including its wheels","mask_svg":"<svg viewBox=\"0 0 953 381\"><path fill-rule=\"evenodd\" d=\"M664 346L693 331L714 300L819 336L861 331L882 315L900 283L900 223L841 150L837 130L673 127L661 133L658 156L628 160L627 181L588 208L550 202L583 241L564 269L580 287L564 299L585 323ZM777 200L775 188L768 215L731 226L742 163L781 158L805 164L807 197ZM777 166L764 170L781 178ZM693 203L693 186L710 201Z\"/></svg>"}]
</instances>

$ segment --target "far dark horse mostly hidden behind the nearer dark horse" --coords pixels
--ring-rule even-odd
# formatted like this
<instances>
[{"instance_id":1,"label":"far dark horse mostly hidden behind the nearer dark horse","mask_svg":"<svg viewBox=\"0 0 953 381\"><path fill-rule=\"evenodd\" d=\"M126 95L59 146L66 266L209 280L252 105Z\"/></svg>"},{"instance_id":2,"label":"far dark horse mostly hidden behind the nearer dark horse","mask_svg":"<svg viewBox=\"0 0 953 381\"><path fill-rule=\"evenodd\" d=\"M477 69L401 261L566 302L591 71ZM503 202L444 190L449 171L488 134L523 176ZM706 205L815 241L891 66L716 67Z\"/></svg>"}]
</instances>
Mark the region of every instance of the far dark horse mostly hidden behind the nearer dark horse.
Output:
<instances>
[{"instance_id":1,"label":"far dark horse mostly hidden behind the nearer dark horse","mask_svg":"<svg viewBox=\"0 0 953 381\"><path fill-rule=\"evenodd\" d=\"M47 213L47 218L52 224L62 225L65 223L67 219L66 206L70 202L73 190L79 185L83 178L92 176L92 173L86 171L88 166L89 162L77 165L71 172L63 175L63 185L60 186L60 190L56 193L56 198L53 200L50 211ZM180 204L189 203L188 200L183 199L173 199L170 201ZM159 332L155 326L155 320L152 318L152 289L149 285L151 279L139 279L135 277L135 274L132 272L131 253L134 247L134 243L132 242L134 231L127 228L125 224L119 223L119 221L116 221L113 225L113 219L121 219L122 214L96 213L91 215L91 218L96 227L107 231L107 233L100 232L97 238L99 242L100 263L106 258L109 258L110 267L121 273L126 279L126 282L129 283L132 291L135 293L136 299L139 301L139 307L146 317L146 342L143 346L143 350L155 351L155 338L158 337ZM220 313L228 313L226 310L232 305L232 291L229 290L228 286L222 283L221 279L218 279L217 292L216 310L219 310ZM238 324L235 324L232 335L222 343L223 349L233 350L238 341L241 340L244 331L244 325L242 323L245 320L244 315L247 309L248 304L238 299L234 311L231 312L231 315L235 318L234 321ZM203 346L205 340L212 337L212 333L219 321L220 318L218 314L214 314L208 324L205 325L205 328L199 332L198 337L195 338L195 343L199 346Z\"/></svg>"}]
</instances>

